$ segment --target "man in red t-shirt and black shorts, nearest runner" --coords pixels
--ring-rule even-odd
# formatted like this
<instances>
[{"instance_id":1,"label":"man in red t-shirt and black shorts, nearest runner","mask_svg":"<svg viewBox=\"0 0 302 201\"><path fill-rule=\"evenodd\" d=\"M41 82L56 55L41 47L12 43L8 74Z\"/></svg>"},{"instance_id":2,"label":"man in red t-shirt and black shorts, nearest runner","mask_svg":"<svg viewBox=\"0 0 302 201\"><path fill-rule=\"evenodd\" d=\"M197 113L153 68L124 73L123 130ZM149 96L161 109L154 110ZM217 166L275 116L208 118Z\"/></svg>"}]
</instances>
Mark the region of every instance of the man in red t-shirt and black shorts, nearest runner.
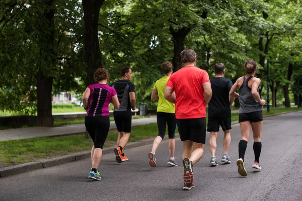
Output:
<instances>
[{"instance_id":1,"label":"man in red t-shirt and black shorts, nearest runner","mask_svg":"<svg viewBox=\"0 0 302 201\"><path fill-rule=\"evenodd\" d=\"M193 164L201 159L205 146L205 106L211 99L212 89L208 73L195 66L194 50L183 50L180 56L185 67L170 76L164 96L171 103L175 103L179 136L184 144L183 189L190 190L194 187ZM172 96L173 91L176 98Z\"/></svg>"}]
</instances>

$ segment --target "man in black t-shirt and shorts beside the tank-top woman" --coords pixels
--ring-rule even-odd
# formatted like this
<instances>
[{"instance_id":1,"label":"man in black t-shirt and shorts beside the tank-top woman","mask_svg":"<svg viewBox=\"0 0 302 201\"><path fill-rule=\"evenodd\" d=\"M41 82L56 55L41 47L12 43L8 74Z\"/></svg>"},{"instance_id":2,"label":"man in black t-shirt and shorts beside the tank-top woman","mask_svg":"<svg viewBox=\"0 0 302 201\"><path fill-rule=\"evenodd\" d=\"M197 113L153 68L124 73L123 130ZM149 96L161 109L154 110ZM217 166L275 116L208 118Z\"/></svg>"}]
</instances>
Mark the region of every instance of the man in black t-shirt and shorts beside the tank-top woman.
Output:
<instances>
[{"instance_id":1,"label":"man in black t-shirt and shorts beside the tank-top woman","mask_svg":"<svg viewBox=\"0 0 302 201\"><path fill-rule=\"evenodd\" d=\"M229 96L233 83L230 79L224 78L225 67L222 63L215 65L215 77L211 78L212 98L208 104L208 125L207 131L211 132L209 140L209 148L211 152L211 166L218 165L215 151L216 139L219 132L219 125L221 126L223 137L223 156L221 162L231 163L231 158L228 150L231 143L231 108L235 97Z\"/></svg>"}]
</instances>

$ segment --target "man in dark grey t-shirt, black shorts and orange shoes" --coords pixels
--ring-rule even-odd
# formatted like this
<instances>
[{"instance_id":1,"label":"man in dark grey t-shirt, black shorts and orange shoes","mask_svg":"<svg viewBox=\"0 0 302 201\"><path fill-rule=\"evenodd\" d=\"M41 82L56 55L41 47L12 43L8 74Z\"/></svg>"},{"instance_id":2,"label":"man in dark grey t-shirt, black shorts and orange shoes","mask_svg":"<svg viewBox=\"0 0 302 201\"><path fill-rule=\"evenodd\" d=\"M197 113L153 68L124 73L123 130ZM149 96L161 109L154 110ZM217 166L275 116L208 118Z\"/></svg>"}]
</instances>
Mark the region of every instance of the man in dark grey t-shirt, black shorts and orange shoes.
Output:
<instances>
[{"instance_id":1,"label":"man in dark grey t-shirt, black shorts and orange shoes","mask_svg":"<svg viewBox=\"0 0 302 201\"><path fill-rule=\"evenodd\" d=\"M118 163L127 161L124 155L131 132L132 110L135 110L135 85L130 80L132 70L129 67L121 69L121 79L113 82L111 86L116 90L120 103L119 109L114 109L113 117L118 131L117 148L114 149L115 159Z\"/></svg>"}]
</instances>

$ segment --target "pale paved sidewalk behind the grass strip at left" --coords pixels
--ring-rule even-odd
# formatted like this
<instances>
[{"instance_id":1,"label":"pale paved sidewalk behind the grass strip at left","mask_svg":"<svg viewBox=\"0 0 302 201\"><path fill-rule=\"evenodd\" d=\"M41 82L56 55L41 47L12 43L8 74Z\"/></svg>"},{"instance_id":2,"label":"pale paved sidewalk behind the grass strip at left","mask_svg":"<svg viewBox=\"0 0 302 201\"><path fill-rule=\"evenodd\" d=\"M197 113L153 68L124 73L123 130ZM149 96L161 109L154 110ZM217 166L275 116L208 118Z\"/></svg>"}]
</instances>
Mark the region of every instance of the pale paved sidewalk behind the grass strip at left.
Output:
<instances>
[{"instance_id":1,"label":"pale paved sidewalk behind the grass strip at left","mask_svg":"<svg viewBox=\"0 0 302 201\"><path fill-rule=\"evenodd\" d=\"M156 116L148 118L133 119L132 126L156 123ZM110 122L110 129L116 129L114 121ZM0 130L0 141L17 140L26 138L37 138L46 136L61 136L68 134L84 133L86 131L84 124L66 125L60 127L29 127L20 129Z\"/></svg>"}]
</instances>

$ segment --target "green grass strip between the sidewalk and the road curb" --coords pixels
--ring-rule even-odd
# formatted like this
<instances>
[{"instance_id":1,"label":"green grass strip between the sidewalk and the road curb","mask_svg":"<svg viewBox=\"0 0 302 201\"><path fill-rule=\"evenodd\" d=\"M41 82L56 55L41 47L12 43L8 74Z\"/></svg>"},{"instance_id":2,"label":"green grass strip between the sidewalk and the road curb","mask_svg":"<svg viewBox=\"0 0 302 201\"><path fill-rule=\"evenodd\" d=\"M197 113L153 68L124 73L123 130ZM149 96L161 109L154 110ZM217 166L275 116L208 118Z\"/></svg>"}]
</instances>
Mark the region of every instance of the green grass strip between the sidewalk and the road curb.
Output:
<instances>
[{"instance_id":1,"label":"green grass strip between the sidewalk and the road curb","mask_svg":"<svg viewBox=\"0 0 302 201\"><path fill-rule=\"evenodd\" d=\"M282 112L297 110L297 108L271 109L263 115L270 115ZM301 110L301 109L300 109ZM239 114L232 114L232 121L238 121ZM207 118L206 118L207 120ZM166 131L166 135L167 135ZM148 124L132 127L129 142L153 138L158 135L157 124ZM117 131L110 130L104 147L116 145ZM16 144L18 146L16 146ZM89 151L92 147L92 140L85 139L84 135L62 136L62 137L41 137L22 140L0 142L0 167L41 161L42 159L68 155L78 151Z\"/></svg>"}]
</instances>

